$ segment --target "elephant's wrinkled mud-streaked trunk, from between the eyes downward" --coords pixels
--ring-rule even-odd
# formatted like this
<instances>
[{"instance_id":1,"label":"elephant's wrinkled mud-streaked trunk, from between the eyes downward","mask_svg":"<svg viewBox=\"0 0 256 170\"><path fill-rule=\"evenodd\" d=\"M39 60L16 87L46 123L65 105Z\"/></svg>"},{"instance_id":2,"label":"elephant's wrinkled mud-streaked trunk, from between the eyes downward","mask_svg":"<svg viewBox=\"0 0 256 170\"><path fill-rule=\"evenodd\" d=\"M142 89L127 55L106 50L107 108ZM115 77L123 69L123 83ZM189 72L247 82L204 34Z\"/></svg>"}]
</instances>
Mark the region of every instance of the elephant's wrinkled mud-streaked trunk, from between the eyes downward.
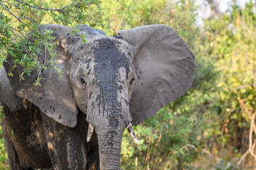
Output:
<instances>
[{"instance_id":1,"label":"elephant's wrinkled mud-streaked trunk, from between the eyes downward","mask_svg":"<svg viewBox=\"0 0 256 170\"><path fill-rule=\"evenodd\" d=\"M132 121L127 91L117 82L98 82L89 100L87 121L97 133L100 169L120 169L122 135ZM90 138L90 137L88 137Z\"/></svg>"}]
</instances>

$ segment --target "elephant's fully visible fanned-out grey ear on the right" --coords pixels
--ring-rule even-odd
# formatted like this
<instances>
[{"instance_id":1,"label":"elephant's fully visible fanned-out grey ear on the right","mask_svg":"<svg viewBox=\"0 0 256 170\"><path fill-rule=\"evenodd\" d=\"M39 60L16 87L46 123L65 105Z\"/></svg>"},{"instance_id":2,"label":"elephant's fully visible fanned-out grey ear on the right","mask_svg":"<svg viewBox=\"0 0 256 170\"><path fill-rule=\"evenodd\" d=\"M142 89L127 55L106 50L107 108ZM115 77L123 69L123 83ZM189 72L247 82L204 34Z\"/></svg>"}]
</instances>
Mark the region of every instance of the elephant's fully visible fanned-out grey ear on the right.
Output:
<instances>
[{"instance_id":1,"label":"elephant's fully visible fanned-out grey ear on the right","mask_svg":"<svg viewBox=\"0 0 256 170\"><path fill-rule=\"evenodd\" d=\"M137 80L129 106L132 125L136 125L188 91L195 57L168 26L140 26L118 33L134 49Z\"/></svg>"}]
</instances>

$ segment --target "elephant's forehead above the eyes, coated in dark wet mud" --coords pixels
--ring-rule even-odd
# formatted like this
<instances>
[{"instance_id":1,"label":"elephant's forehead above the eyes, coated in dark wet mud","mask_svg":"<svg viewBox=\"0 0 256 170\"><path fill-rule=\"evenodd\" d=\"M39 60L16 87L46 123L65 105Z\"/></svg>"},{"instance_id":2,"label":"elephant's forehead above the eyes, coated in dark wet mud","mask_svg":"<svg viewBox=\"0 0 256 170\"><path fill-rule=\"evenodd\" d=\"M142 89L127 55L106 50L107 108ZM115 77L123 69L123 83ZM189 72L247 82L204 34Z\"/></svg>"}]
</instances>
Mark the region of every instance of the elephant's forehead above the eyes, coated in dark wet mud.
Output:
<instances>
[{"instance_id":1,"label":"elephant's forehead above the eyes, coated in dark wet mud","mask_svg":"<svg viewBox=\"0 0 256 170\"><path fill-rule=\"evenodd\" d=\"M120 70L128 73L132 64L124 51L124 45L121 42L111 38L100 38L94 41L92 46L92 57L87 58L87 67L92 67L97 81L103 79L117 79ZM124 69L120 69L120 67Z\"/></svg>"}]
</instances>

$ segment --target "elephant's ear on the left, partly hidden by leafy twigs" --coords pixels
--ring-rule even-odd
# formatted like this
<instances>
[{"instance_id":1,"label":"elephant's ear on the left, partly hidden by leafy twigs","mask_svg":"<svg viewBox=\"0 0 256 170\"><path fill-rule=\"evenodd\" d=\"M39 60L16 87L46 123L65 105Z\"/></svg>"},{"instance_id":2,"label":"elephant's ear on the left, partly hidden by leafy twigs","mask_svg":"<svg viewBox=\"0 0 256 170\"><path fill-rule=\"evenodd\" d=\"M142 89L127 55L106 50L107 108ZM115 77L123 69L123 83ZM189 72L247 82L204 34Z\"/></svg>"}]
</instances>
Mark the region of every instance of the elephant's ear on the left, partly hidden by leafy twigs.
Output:
<instances>
[{"instance_id":1,"label":"elephant's ear on the left, partly hidden by leafy twigs","mask_svg":"<svg viewBox=\"0 0 256 170\"><path fill-rule=\"evenodd\" d=\"M19 74L23 72L21 67L16 67L11 71L11 59L4 62L6 72L12 72L13 76L9 77L11 86L16 91L16 94L21 98L26 98L33 104L41 108L43 113L46 113L50 118L67 125L75 127L77 123L78 110L73 99L73 92L70 88L68 80L68 47L75 45L78 38L70 35L70 28L58 25L48 25L45 29L53 30L55 37L56 50L58 57L56 59L58 67L63 72L60 77L55 69L33 70L30 76L23 75L24 80L20 80ZM49 60L50 55L45 54L42 50L42 55L38 56L39 62L43 63ZM47 64L47 63L46 63ZM41 74L41 86L33 85L38 75Z\"/></svg>"}]
</instances>

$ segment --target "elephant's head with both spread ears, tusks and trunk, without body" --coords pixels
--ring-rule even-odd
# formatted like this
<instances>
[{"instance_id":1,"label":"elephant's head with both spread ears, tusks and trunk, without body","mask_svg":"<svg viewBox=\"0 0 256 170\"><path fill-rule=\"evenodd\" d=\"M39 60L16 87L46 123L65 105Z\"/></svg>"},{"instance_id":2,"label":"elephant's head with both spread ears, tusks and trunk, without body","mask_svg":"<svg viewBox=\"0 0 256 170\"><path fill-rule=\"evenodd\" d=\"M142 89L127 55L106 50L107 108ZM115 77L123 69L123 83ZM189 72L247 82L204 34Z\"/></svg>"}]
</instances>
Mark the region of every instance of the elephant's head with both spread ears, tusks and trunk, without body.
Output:
<instances>
[{"instance_id":1,"label":"elephant's head with both spread ears, tusks and trunk, without body","mask_svg":"<svg viewBox=\"0 0 256 170\"><path fill-rule=\"evenodd\" d=\"M90 123L87 141L93 130L97 133L101 169L119 169L125 128L138 142L132 125L188 91L196 67L193 53L163 25L119 30L114 37L89 26L80 26L79 35L65 26L45 29L53 30L63 76L54 69L34 70L20 81L16 68L11 85L18 96L68 127L75 127L80 108ZM87 42L80 35L86 35ZM50 56L42 53L39 60L44 62ZM4 67L11 69L7 62ZM44 79L41 86L33 86L38 74Z\"/></svg>"}]
</instances>

